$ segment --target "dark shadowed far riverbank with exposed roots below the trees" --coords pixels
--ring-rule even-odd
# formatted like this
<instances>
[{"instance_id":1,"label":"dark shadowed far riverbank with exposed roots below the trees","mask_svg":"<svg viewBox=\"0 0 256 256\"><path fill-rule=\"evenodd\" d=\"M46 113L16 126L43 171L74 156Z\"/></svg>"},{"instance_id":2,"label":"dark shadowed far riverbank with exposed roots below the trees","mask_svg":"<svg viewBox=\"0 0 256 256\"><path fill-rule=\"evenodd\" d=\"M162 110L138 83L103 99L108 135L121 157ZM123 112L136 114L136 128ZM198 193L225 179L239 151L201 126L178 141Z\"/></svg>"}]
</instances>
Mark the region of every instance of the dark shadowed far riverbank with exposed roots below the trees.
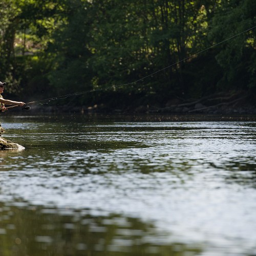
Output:
<instances>
[{"instance_id":1,"label":"dark shadowed far riverbank with exposed roots below the trees","mask_svg":"<svg viewBox=\"0 0 256 256\"><path fill-rule=\"evenodd\" d=\"M116 99L115 103L96 102L93 105L31 105L39 113L81 113L81 114L169 114L169 115L256 115L256 98L243 91L216 93L199 99L170 98L165 102ZM55 101L55 103L58 103Z\"/></svg>"}]
</instances>

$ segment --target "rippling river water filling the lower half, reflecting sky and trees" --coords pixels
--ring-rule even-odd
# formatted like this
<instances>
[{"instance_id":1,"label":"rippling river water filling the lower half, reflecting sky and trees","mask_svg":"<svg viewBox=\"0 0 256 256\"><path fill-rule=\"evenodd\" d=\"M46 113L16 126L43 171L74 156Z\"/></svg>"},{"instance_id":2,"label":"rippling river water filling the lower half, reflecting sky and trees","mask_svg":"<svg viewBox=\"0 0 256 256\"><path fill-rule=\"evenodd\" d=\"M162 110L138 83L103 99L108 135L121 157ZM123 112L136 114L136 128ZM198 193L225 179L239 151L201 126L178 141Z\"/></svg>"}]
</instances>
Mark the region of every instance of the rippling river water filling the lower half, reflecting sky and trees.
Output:
<instances>
[{"instance_id":1,"label":"rippling river water filling the lower half, reflecting sky and trees","mask_svg":"<svg viewBox=\"0 0 256 256\"><path fill-rule=\"evenodd\" d=\"M256 122L6 115L0 255L256 255Z\"/></svg>"}]
</instances>

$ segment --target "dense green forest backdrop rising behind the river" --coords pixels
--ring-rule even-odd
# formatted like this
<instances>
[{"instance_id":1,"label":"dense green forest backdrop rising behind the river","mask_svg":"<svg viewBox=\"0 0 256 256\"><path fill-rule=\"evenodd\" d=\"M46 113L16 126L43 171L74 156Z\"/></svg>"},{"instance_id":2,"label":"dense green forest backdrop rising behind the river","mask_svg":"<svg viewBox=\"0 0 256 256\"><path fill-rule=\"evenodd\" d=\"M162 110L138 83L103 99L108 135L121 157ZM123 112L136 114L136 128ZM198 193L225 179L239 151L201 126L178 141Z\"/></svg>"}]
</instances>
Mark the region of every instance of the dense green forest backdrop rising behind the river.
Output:
<instances>
[{"instance_id":1,"label":"dense green forest backdrop rising behind the river","mask_svg":"<svg viewBox=\"0 0 256 256\"><path fill-rule=\"evenodd\" d=\"M0 81L26 102L88 91L51 104L105 111L253 104L255 14L255 0L0 0Z\"/></svg>"}]
</instances>

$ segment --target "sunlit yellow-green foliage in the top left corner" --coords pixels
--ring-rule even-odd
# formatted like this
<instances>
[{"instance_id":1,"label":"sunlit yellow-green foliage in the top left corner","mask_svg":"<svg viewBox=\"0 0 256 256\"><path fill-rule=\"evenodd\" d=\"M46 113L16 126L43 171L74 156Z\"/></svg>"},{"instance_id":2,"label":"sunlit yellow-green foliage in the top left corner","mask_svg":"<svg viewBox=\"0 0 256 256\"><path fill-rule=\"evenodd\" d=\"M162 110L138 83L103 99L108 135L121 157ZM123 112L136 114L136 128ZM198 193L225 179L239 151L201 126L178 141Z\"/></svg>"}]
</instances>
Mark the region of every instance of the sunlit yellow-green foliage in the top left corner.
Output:
<instances>
[{"instance_id":1,"label":"sunlit yellow-green foliage in the top left corner","mask_svg":"<svg viewBox=\"0 0 256 256\"><path fill-rule=\"evenodd\" d=\"M20 91L20 84L33 79L25 74L34 68L30 56L44 53L52 40L58 26L54 8L58 7L56 1L4 0L0 8L1 80L7 81L8 92L14 93Z\"/></svg>"}]
</instances>

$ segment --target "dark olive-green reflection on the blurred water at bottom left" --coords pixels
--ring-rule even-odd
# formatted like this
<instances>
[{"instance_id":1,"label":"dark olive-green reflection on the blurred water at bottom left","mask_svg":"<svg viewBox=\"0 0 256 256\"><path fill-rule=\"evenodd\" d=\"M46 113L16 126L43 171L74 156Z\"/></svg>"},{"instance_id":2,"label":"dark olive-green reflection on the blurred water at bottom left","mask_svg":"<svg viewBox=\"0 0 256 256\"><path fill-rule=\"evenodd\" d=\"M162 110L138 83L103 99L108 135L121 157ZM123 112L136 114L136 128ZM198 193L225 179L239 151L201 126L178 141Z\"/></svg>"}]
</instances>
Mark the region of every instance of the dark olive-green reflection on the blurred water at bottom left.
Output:
<instances>
[{"instance_id":1,"label":"dark olive-green reflection on the blurred water at bottom left","mask_svg":"<svg viewBox=\"0 0 256 256\"><path fill-rule=\"evenodd\" d=\"M153 224L121 215L0 203L0 255L198 255L197 246L170 243Z\"/></svg>"}]
</instances>

